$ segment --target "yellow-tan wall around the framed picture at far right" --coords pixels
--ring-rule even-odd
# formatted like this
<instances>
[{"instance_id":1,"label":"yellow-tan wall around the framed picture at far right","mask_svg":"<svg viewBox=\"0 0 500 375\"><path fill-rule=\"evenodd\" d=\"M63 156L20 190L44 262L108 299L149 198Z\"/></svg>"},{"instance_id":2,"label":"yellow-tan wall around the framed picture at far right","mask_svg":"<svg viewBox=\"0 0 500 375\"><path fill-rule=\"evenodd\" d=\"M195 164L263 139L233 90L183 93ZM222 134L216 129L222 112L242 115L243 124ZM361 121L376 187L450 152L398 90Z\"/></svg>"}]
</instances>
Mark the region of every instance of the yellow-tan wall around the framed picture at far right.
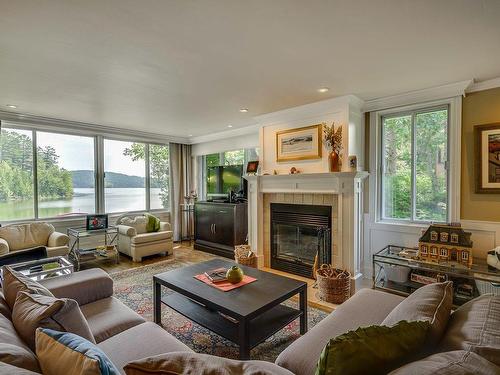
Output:
<instances>
[{"instance_id":1,"label":"yellow-tan wall around the framed picture at far right","mask_svg":"<svg viewBox=\"0 0 500 375\"><path fill-rule=\"evenodd\" d=\"M474 126L500 122L500 88L467 94L462 102L461 219L500 221L500 194L475 194Z\"/></svg>"}]
</instances>

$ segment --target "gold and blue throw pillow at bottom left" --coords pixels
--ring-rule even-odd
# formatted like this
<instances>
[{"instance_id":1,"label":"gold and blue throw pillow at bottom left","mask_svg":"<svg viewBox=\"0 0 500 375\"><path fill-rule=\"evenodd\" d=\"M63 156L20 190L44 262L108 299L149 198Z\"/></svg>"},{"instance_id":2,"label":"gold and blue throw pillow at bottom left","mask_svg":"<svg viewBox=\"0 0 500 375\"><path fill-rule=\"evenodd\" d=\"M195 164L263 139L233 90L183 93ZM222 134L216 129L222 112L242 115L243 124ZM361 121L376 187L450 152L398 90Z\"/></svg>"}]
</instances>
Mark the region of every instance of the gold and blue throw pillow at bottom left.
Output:
<instances>
[{"instance_id":1,"label":"gold and blue throw pillow at bottom left","mask_svg":"<svg viewBox=\"0 0 500 375\"><path fill-rule=\"evenodd\" d=\"M47 375L119 375L120 371L94 343L69 332L36 331L36 355ZM71 369L71 371L69 371Z\"/></svg>"}]
</instances>

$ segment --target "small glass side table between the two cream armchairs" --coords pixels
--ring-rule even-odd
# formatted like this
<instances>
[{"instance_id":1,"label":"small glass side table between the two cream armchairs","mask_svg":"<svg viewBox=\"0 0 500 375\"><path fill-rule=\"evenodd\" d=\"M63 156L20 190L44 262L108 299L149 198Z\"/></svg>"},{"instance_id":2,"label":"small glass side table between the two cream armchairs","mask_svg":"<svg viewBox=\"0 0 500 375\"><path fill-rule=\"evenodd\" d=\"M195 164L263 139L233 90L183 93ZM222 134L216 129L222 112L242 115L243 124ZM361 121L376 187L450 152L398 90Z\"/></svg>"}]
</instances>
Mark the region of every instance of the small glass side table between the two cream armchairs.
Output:
<instances>
[{"instance_id":1,"label":"small glass side table between the two cream armchairs","mask_svg":"<svg viewBox=\"0 0 500 375\"><path fill-rule=\"evenodd\" d=\"M109 227L104 229L88 230L85 227L68 228L69 236L69 259L73 262L76 270L80 270L80 266L88 262L106 261L113 259L116 264L120 263L120 255L116 247L116 240L118 237L118 230L116 227ZM82 240L91 239L98 240L102 236L104 246L81 247Z\"/></svg>"}]
</instances>

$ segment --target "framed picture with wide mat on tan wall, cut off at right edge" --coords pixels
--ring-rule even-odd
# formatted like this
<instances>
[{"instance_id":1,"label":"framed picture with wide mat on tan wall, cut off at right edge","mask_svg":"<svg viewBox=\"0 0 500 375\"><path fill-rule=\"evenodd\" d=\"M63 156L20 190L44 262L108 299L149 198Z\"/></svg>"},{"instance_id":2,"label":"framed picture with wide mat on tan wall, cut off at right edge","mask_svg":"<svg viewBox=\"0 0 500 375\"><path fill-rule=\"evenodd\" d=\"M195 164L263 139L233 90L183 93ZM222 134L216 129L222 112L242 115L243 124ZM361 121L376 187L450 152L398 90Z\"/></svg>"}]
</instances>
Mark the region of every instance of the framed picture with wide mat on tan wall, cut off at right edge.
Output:
<instances>
[{"instance_id":1,"label":"framed picture with wide mat on tan wall, cut off at right edge","mask_svg":"<svg viewBox=\"0 0 500 375\"><path fill-rule=\"evenodd\" d=\"M500 194L500 123L474 127L476 193Z\"/></svg>"}]
</instances>

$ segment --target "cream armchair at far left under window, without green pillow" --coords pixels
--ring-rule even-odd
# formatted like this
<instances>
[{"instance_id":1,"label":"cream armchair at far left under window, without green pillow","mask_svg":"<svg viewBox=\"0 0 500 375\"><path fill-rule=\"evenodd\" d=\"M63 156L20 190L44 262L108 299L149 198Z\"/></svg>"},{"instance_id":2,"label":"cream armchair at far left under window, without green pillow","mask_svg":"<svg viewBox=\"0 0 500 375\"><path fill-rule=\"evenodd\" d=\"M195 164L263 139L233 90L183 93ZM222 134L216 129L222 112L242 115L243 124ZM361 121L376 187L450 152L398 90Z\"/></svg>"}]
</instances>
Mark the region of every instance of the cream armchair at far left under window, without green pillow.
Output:
<instances>
[{"instance_id":1,"label":"cream armchair at far left under window, without green pillow","mask_svg":"<svg viewBox=\"0 0 500 375\"><path fill-rule=\"evenodd\" d=\"M48 257L68 255L69 238L55 231L52 224L32 222L0 228L0 256L14 251L45 246Z\"/></svg>"}]
</instances>

